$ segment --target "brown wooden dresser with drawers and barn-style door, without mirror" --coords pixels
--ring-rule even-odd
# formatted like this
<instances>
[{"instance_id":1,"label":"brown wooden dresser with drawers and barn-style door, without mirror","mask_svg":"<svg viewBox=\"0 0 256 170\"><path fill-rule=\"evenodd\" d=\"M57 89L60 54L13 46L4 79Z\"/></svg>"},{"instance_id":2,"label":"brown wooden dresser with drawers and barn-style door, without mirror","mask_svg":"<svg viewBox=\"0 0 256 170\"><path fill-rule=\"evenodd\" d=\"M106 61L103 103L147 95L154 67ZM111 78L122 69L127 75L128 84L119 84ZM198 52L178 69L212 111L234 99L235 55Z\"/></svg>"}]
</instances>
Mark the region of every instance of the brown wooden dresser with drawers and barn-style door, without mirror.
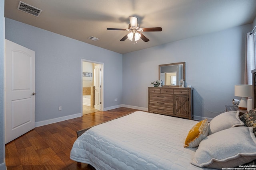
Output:
<instances>
[{"instance_id":1,"label":"brown wooden dresser with drawers and barn-style door, without mirror","mask_svg":"<svg viewBox=\"0 0 256 170\"><path fill-rule=\"evenodd\" d=\"M148 111L193 120L193 88L149 87Z\"/></svg>"}]
</instances>

